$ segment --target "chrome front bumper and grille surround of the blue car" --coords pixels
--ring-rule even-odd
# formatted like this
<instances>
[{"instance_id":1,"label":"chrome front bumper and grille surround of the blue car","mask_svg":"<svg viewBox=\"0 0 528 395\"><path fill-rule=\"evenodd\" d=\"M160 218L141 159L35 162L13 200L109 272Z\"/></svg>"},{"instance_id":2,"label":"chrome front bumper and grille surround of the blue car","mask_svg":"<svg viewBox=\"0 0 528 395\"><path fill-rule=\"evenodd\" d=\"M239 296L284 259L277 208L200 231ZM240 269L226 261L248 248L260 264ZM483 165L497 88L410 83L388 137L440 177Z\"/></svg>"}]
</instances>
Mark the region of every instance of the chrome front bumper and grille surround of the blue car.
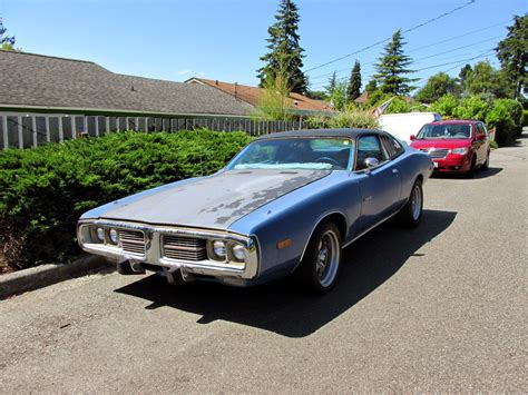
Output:
<instances>
[{"instance_id":1,"label":"chrome front bumper and grille surround of the blue car","mask_svg":"<svg viewBox=\"0 0 528 395\"><path fill-rule=\"evenodd\" d=\"M145 236L145 254L131 254L124 251L118 246L101 243L91 243L89 237L90 227L110 227L118 230L141 231ZM235 267L228 261L213 259L182 260L172 259L163 255L162 236L175 235L201 239L223 239L241 243L246 247L247 256L243 267ZM213 276L225 279L253 279L258 275L258 241L256 237L243 236L229 231L196 229L172 226L153 226L139 223L115 221L105 219L82 219L77 225L77 237L79 246L87 253L100 255L116 263L129 260L133 264L146 263L166 268L174 273L182 270L182 275L188 274ZM134 267L134 265L133 265Z\"/></svg>"}]
</instances>

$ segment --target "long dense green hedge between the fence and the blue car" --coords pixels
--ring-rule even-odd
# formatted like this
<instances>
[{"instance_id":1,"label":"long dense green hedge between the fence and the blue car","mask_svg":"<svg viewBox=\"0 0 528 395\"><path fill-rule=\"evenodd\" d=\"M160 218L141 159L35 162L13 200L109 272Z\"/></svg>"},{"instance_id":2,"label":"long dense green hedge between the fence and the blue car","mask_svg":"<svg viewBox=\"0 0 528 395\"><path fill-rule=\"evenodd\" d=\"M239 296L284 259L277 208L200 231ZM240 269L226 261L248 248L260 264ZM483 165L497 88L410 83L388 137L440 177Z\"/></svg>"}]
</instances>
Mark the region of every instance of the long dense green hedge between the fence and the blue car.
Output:
<instances>
[{"instance_id":1,"label":"long dense green hedge between the fence and the blue car","mask_svg":"<svg viewBox=\"0 0 528 395\"><path fill-rule=\"evenodd\" d=\"M79 216L104 203L222 168L251 137L208 130L123 132L0 152L0 266L79 253Z\"/></svg>"}]
</instances>

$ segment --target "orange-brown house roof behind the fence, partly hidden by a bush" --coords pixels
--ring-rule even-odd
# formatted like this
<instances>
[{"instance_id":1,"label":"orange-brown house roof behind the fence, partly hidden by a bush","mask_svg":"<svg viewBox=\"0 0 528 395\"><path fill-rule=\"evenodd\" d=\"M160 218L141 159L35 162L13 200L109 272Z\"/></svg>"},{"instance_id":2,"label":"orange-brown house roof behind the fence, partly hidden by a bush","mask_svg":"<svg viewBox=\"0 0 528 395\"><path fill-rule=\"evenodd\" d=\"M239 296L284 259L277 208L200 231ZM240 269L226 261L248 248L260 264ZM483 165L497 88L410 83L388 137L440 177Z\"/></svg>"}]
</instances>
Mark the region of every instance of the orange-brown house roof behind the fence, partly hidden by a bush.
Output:
<instances>
[{"instance_id":1,"label":"orange-brown house roof behind the fence, partly hidden by a bush","mask_svg":"<svg viewBox=\"0 0 528 395\"><path fill-rule=\"evenodd\" d=\"M213 87L217 90L231 95L233 98L251 105L253 108L258 106L258 101L264 92L263 88L251 87L239 83L231 83L218 80L211 80L205 78L193 77L185 82L189 85L199 85L205 87ZM327 115L332 111L330 105L322 100L310 99L300 93L290 93L286 99L286 107L289 112L297 116L313 116L313 115Z\"/></svg>"}]
</instances>

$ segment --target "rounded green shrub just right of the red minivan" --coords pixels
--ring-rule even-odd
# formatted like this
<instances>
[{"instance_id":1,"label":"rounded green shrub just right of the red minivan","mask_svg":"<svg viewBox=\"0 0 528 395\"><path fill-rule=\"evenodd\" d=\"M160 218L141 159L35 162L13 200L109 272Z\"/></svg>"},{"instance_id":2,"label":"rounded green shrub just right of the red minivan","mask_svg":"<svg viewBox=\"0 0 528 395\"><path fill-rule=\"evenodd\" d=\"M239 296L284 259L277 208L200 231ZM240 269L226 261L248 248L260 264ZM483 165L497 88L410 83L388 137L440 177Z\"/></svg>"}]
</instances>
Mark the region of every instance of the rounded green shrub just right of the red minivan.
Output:
<instances>
[{"instance_id":1,"label":"rounded green shrub just right of the red minivan","mask_svg":"<svg viewBox=\"0 0 528 395\"><path fill-rule=\"evenodd\" d=\"M522 107L511 99L496 100L493 107L486 117L486 124L489 128L496 129L495 139L499 146L509 144L515 140L521 126Z\"/></svg>"}]
</instances>

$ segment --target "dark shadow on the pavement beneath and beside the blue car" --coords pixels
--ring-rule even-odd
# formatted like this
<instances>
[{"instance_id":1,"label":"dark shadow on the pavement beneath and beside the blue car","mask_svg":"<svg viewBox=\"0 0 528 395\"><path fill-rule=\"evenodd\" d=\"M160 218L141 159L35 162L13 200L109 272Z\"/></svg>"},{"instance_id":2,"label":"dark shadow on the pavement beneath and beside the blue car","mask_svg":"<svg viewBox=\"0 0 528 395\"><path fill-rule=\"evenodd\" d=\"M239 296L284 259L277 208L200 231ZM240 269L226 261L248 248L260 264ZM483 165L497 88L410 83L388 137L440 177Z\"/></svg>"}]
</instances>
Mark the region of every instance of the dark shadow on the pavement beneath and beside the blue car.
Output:
<instances>
[{"instance_id":1,"label":"dark shadow on the pavement beneath and beside the blue car","mask_svg":"<svg viewBox=\"0 0 528 395\"><path fill-rule=\"evenodd\" d=\"M324 296L309 296L289 280L253 288L197 283L169 286L153 275L116 293L151 302L147 309L169 306L202 315L199 324L216 319L271 330L287 337L307 336L366 297L394 275L423 245L444 231L456 213L424 210L419 228L404 230L388 221L344 249L344 265L336 287ZM427 261L424 256L423 263Z\"/></svg>"}]
</instances>

